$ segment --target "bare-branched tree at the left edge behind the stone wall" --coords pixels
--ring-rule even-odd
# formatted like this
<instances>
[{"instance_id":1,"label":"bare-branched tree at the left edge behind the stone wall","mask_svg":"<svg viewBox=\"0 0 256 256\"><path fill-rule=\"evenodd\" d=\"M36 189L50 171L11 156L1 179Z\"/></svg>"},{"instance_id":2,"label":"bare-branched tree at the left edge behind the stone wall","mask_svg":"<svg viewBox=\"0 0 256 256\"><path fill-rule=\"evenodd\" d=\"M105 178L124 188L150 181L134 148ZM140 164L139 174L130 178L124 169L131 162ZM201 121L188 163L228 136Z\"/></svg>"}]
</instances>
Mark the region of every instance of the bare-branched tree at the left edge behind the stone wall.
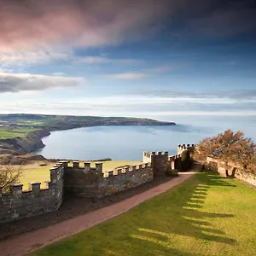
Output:
<instances>
[{"instance_id":1,"label":"bare-branched tree at the left edge behind the stone wall","mask_svg":"<svg viewBox=\"0 0 256 256\"><path fill-rule=\"evenodd\" d=\"M20 176L20 167L17 169L10 165L0 166L0 187L3 188L3 193L9 193L11 186L19 183Z\"/></svg>"}]
</instances>

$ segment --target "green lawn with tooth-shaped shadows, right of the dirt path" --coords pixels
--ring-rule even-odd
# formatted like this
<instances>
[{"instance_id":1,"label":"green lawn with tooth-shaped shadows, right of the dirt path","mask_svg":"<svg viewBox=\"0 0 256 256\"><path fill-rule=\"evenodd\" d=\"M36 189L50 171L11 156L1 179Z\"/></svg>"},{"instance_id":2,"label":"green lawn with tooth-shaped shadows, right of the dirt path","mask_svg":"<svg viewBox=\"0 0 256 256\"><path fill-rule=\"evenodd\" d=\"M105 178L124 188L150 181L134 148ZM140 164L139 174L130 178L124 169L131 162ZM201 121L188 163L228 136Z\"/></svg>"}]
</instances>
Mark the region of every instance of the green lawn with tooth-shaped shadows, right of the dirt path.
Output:
<instances>
[{"instance_id":1,"label":"green lawn with tooth-shaped shadows, right of the dirt path","mask_svg":"<svg viewBox=\"0 0 256 256\"><path fill-rule=\"evenodd\" d=\"M256 255L256 191L214 172L31 256Z\"/></svg>"}]
</instances>

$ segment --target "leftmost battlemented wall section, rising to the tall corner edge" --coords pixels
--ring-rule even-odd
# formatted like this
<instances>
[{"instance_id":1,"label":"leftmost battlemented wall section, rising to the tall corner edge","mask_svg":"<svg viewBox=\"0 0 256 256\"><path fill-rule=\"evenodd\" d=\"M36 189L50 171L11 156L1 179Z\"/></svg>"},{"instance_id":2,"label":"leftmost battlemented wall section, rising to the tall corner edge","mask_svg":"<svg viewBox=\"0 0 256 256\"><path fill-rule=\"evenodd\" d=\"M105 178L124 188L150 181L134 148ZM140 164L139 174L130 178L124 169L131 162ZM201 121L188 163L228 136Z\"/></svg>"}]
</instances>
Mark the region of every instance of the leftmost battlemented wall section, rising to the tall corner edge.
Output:
<instances>
[{"instance_id":1,"label":"leftmost battlemented wall section, rising to the tall corner edge","mask_svg":"<svg viewBox=\"0 0 256 256\"><path fill-rule=\"evenodd\" d=\"M9 195L0 189L0 223L31 217L57 210L63 197L64 164L50 169L48 189L40 189L41 183L30 183L31 191L22 191L22 184L15 184Z\"/></svg>"}]
</instances>

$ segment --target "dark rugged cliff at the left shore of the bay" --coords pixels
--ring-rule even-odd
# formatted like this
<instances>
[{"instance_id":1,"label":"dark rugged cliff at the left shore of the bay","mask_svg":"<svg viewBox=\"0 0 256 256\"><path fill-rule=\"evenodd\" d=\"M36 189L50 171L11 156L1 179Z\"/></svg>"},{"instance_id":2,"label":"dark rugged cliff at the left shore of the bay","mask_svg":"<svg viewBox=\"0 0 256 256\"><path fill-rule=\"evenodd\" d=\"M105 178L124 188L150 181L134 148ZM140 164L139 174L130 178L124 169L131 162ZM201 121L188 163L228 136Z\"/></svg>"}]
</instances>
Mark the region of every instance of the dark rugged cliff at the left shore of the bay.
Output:
<instances>
[{"instance_id":1,"label":"dark rugged cliff at the left shore of the bay","mask_svg":"<svg viewBox=\"0 0 256 256\"><path fill-rule=\"evenodd\" d=\"M42 137L48 136L47 129L29 132L26 137L0 139L0 154L26 154L44 148Z\"/></svg>"}]
</instances>

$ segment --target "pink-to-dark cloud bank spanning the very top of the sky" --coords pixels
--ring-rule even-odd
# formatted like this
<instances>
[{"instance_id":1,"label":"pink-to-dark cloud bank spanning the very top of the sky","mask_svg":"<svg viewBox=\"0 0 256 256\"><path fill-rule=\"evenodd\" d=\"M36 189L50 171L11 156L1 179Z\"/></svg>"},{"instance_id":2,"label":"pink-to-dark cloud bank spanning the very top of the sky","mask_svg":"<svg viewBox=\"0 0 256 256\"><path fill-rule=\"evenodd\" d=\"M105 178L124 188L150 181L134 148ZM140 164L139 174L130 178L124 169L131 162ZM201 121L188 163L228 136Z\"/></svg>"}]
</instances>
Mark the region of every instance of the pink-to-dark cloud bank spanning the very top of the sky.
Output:
<instances>
[{"instance_id":1,"label":"pink-to-dark cloud bank spanning the very top of the sky","mask_svg":"<svg viewBox=\"0 0 256 256\"><path fill-rule=\"evenodd\" d=\"M0 51L49 45L94 47L148 37L166 27L195 20L196 31L255 29L253 1L220 0L0 0ZM164 26L165 25L165 26Z\"/></svg>"}]
</instances>

